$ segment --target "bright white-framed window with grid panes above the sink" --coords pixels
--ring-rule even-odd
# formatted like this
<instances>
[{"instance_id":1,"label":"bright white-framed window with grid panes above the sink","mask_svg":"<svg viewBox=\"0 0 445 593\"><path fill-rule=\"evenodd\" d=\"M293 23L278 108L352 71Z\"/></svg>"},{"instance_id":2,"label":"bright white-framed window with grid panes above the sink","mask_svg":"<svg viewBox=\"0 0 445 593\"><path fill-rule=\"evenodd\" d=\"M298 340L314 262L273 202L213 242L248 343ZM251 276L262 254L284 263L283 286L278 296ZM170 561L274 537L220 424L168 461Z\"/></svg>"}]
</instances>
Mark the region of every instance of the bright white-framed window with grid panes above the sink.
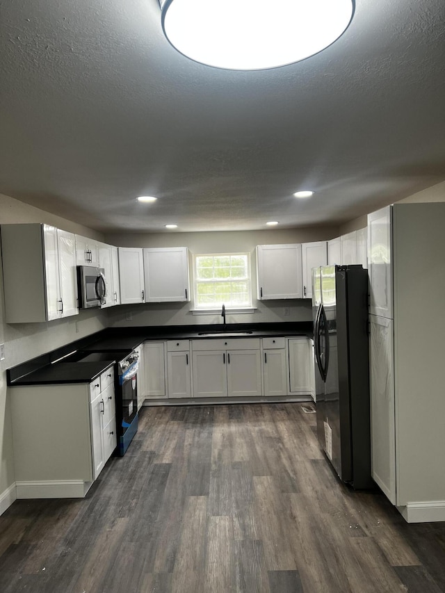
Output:
<instances>
[{"instance_id":1,"label":"bright white-framed window with grid panes above the sink","mask_svg":"<svg viewBox=\"0 0 445 593\"><path fill-rule=\"evenodd\" d=\"M196 309L252 307L250 253L193 257Z\"/></svg>"}]
</instances>

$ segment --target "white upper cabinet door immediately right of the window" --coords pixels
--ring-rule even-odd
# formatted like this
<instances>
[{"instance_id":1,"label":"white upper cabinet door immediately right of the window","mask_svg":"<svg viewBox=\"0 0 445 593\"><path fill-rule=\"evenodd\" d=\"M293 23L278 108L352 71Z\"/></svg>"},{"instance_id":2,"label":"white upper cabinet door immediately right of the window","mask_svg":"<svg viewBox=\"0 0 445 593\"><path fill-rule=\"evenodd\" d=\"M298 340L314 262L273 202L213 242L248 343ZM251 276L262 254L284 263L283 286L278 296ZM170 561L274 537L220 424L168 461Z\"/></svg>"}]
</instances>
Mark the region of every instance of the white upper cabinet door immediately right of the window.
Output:
<instances>
[{"instance_id":1,"label":"white upper cabinet door immediately right of the window","mask_svg":"<svg viewBox=\"0 0 445 593\"><path fill-rule=\"evenodd\" d=\"M259 300L302 298L301 245L258 245Z\"/></svg>"}]
</instances>

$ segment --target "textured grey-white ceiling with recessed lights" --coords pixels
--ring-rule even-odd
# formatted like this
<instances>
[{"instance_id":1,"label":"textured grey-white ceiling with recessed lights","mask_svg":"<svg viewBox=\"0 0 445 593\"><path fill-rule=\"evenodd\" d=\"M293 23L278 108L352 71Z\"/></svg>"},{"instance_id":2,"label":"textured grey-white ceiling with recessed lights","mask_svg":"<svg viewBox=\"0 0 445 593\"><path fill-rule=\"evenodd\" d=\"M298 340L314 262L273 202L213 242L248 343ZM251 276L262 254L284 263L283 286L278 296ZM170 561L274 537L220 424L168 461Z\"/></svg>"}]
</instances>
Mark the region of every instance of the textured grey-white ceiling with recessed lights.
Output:
<instances>
[{"instance_id":1,"label":"textured grey-white ceiling with recessed lights","mask_svg":"<svg viewBox=\"0 0 445 593\"><path fill-rule=\"evenodd\" d=\"M241 230L445 179L444 0L357 0L331 47L261 72L188 60L160 20L157 0L0 3L0 193L103 232Z\"/></svg>"}]
</instances>

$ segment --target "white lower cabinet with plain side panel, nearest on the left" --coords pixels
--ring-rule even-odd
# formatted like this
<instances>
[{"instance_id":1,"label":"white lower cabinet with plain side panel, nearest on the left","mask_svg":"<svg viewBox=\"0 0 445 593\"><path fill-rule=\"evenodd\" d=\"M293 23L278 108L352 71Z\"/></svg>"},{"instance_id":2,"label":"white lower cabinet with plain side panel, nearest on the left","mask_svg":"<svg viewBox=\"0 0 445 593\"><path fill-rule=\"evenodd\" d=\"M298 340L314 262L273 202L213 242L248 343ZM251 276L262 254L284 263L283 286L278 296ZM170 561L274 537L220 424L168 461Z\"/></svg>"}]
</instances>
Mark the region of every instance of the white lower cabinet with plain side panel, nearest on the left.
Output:
<instances>
[{"instance_id":1,"label":"white lower cabinet with plain side panel, nearest on the left","mask_svg":"<svg viewBox=\"0 0 445 593\"><path fill-rule=\"evenodd\" d=\"M113 367L90 384L10 388L17 498L82 498L117 444Z\"/></svg>"}]
</instances>

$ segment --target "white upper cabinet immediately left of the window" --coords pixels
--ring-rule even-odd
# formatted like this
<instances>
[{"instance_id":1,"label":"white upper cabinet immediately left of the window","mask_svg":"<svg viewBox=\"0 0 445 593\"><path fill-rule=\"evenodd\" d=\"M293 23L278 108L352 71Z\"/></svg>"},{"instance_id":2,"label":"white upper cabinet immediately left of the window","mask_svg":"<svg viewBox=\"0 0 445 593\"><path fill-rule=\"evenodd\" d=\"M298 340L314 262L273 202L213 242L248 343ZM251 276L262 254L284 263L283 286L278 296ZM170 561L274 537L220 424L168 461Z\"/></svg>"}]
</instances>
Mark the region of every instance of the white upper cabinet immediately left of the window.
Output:
<instances>
[{"instance_id":1,"label":"white upper cabinet immediately left of the window","mask_svg":"<svg viewBox=\"0 0 445 593\"><path fill-rule=\"evenodd\" d=\"M145 302L190 300L187 247L149 247L143 252Z\"/></svg>"}]
</instances>

